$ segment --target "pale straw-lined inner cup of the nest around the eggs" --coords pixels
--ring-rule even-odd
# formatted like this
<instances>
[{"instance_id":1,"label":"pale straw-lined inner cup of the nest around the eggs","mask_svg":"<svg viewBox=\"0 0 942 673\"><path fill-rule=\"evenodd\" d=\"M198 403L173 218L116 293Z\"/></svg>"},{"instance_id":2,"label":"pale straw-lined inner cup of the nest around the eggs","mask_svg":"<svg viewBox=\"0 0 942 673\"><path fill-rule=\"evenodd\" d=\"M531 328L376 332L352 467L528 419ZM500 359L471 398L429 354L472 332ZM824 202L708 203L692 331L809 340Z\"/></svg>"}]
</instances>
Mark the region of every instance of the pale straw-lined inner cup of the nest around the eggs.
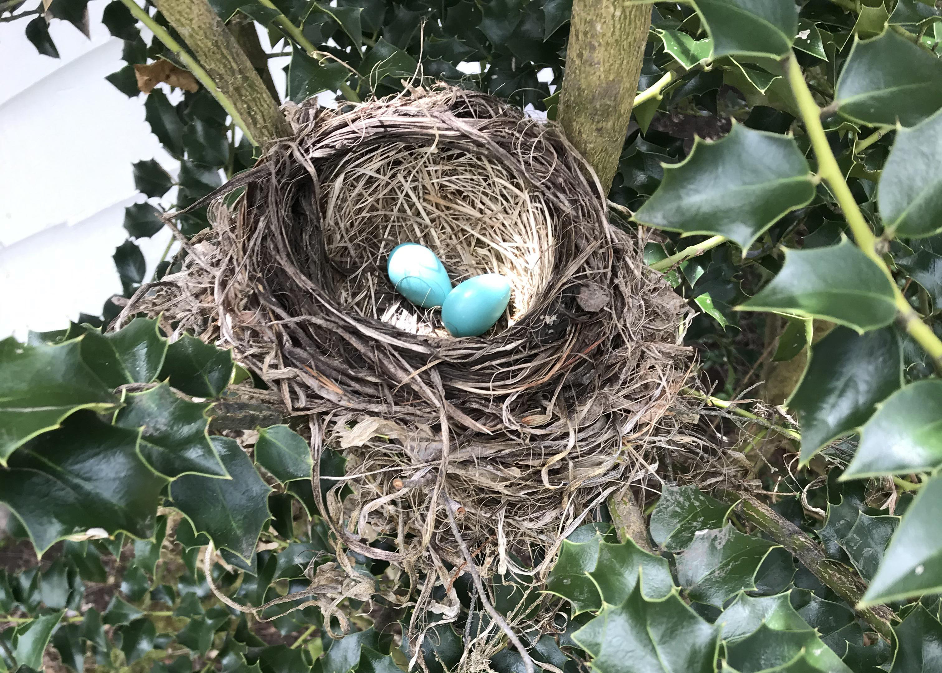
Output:
<instances>
[{"instance_id":1,"label":"pale straw-lined inner cup of the nest around the eggs","mask_svg":"<svg viewBox=\"0 0 942 673\"><path fill-rule=\"evenodd\" d=\"M365 143L323 177L320 212L339 304L416 335L447 337L437 310L410 304L386 275L399 243L421 243L453 286L500 273L511 304L496 330L524 315L554 265L554 227L539 193L484 155L426 143Z\"/></svg>"}]
</instances>

